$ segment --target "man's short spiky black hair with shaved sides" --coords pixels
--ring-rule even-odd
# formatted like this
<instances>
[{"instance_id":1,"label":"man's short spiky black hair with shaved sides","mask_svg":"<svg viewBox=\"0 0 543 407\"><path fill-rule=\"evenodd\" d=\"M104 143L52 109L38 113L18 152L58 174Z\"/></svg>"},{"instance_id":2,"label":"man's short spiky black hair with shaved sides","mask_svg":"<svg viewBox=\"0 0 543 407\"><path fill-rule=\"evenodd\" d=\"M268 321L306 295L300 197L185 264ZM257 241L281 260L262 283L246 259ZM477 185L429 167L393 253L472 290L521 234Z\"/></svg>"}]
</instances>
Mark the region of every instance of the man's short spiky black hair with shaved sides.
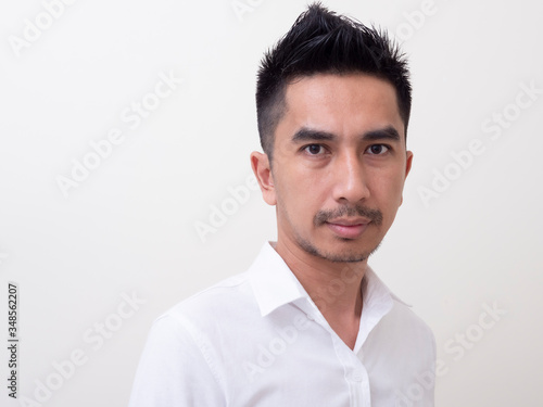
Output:
<instances>
[{"instance_id":1,"label":"man's short spiky black hair with shaved sides","mask_svg":"<svg viewBox=\"0 0 543 407\"><path fill-rule=\"evenodd\" d=\"M286 111L285 92L289 82L315 74L350 73L374 75L394 86L407 135L412 87L404 54L386 31L337 15L316 2L261 61L256 115L261 145L270 163L274 133Z\"/></svg>"}]
</instances>

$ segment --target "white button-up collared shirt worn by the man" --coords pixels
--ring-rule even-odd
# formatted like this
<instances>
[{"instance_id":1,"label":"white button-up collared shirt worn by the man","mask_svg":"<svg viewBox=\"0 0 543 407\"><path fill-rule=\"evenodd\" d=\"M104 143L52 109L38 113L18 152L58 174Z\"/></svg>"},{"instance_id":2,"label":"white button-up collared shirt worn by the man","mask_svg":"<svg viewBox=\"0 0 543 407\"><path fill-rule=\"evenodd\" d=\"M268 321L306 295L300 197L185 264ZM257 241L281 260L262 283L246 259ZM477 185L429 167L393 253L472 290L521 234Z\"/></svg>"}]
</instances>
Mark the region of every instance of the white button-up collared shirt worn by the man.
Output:
<instances>
[{"instance_id":1,"label":"white button-up collared shirt worn by the man","mask_svg":"<svg viewBox=\"0 0 543 407\"><path fill-rule=\"evenodd\" d=\"M364 280L353 351L266 242L156 319L129 406L433 406L433 334L369 267Z\"/></svg>"}]
</instances>

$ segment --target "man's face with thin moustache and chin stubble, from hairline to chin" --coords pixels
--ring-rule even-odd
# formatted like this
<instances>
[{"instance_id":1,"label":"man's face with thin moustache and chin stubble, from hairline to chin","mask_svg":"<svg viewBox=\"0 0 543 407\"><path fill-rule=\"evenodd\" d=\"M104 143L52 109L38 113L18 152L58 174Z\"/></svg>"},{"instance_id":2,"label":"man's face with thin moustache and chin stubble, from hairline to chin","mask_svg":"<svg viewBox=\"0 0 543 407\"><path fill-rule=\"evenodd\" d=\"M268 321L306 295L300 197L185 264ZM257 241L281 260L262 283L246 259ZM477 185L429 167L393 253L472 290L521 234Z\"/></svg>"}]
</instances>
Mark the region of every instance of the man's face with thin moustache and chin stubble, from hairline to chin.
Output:
<instances>
[{"instance_id":1,"label":"man's face with thin moustache and chin stubble, from hairline to chin","mask_svg":"<svg viewBox=\"0 0 543 407\"><path fill-rule=\"evenodd\" d=\"M286 90L267 203L278 242L332 262L377 249L402 203L412 153L393 86L364 74L302 77Z\"/></svg>"}]
</instances>

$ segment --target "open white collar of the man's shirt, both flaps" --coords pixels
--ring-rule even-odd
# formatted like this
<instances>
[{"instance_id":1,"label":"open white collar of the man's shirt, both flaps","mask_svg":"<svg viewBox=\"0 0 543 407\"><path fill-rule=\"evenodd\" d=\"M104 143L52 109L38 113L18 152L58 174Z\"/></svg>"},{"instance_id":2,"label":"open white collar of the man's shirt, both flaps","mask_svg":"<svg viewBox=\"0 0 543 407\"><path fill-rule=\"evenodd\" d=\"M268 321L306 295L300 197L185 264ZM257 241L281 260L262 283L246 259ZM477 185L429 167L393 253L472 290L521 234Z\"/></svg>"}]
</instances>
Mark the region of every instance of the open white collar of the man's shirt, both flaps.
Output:
<instances>
[{"instance_id":1,"label":"open white collar of the man's shirt, both flaps","mask_svg":"<svg viewBox=\"0 0 543 407\"><path fill-rule=\"evenodd\" d=\"M311 302L305 289L273 245L275 245L275 242L264 243L258 256L248 271L263 317L281 305L292 303L299 298L305 297ZM378 314L386 314L392 307L392 300L405 304L389 290L369 266L365 272L362 294L364 302L363 314L369 309L377 310L376 307L380 308Z\"/></svg>"}]
</instances>

